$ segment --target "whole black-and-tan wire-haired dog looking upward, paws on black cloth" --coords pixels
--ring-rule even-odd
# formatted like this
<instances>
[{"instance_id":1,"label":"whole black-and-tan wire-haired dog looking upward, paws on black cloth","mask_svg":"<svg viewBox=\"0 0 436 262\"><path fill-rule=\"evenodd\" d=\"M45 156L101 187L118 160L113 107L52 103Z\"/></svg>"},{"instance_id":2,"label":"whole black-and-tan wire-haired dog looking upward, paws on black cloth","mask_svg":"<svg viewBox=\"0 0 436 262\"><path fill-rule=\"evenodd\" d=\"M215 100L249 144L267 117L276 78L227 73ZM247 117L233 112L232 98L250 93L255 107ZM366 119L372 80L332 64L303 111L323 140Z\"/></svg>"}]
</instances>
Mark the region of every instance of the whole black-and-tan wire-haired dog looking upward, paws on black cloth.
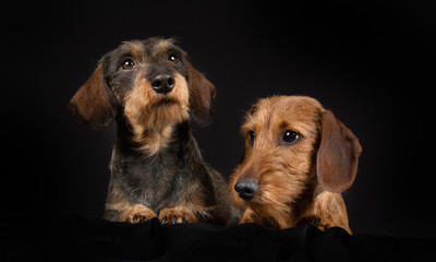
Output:
<instances>
[{"instance_id":1,"label":"whole black-and-tan wire-haired dog looking upward, paws on black cloth","mask_svg":"<svg viewBox=\"0 0 436 262\"><path fill-rule=\"evenodd\" d=\"M105 218L229 224L225 180L189 123L210 120L215 94L172 39L125 41L101 58L70 109L85 126L118 124Z\"/></svg>"}]
</instances>

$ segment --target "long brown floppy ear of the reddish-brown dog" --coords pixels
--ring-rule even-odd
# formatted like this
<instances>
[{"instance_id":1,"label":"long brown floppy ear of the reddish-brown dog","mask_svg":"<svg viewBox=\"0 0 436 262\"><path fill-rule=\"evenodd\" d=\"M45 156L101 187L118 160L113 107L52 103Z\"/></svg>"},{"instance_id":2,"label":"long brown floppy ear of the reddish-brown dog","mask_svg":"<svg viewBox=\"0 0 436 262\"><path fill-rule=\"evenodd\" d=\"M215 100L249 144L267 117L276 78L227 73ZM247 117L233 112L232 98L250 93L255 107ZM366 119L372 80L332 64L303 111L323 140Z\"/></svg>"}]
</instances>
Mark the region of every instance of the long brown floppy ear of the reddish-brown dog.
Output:
<instances>
[{"instance_id":1,"label":"long brown floppy ear of the reddish-brown dog","mask_svg":"<svg viewBox=\"0 0 436 262\"><path fill-rule=\"evenodd\" d=\"M320 186L341 193L354 181L362 146L358 138L329 110L322 116L316 171Z\"/></svg>"}]
</instances>

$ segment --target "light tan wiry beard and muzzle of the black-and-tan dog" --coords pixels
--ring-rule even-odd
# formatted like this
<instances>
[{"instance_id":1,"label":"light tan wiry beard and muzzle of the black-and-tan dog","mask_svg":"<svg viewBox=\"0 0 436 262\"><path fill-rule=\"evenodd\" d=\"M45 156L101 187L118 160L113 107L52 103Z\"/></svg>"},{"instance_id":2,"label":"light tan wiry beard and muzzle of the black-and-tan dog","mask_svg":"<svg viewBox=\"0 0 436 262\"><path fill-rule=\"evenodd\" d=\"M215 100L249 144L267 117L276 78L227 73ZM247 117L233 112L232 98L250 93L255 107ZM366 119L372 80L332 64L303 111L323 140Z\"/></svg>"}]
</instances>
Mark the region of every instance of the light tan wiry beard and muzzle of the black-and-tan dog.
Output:
<instances>
[{"instance_id":1,"label":"light tan wiry beard and muzzle of the black-and-tan dog","mask_svg":"<svg viewBox=\"0 0 436 262\"><path fill-rule=\"evenodd\" d=\"M189 119L187 83L175 74L175 85L167 95L156 93L148 80L137 79L125 99L124 114L133 128L138 150L154 155L166 148L174 124Z\"/></svg>"}]
</instances>

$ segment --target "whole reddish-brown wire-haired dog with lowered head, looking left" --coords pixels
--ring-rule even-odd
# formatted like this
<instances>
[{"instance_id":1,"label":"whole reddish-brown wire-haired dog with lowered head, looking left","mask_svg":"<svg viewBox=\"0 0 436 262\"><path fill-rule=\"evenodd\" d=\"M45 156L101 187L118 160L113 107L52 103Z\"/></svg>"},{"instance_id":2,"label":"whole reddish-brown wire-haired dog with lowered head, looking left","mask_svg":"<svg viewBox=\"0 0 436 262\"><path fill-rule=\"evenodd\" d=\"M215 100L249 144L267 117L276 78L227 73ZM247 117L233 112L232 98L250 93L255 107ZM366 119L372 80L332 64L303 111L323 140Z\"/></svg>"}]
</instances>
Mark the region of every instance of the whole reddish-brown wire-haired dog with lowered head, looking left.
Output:
<instances>
[{"instance_id":1,"label":"whole reddish-brown wire-haired dog with lowered head, looking left","mask_svg":"<svg viewBox=\"0 0 436 262\"><path fill-rule=\"evenodd\" d=\"M240 223L308 222L351 234L341 192L354 181L362 147L331 111L311 97L272 96L253 106L241 132L245 156L229 182Z\"/></svg>"}]
</instances>

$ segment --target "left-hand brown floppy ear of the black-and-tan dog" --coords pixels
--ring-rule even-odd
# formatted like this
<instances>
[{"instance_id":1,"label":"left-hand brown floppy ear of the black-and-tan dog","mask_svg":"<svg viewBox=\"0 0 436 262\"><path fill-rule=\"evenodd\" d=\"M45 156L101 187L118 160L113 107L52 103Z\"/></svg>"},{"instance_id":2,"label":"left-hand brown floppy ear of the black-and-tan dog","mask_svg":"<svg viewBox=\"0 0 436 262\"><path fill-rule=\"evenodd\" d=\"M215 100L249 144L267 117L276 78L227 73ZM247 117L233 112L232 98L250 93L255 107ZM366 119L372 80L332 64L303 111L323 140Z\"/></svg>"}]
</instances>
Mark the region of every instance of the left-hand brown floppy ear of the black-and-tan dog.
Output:
<instances>
[{"instance_id":1,"label":"left-hand brown floppy ear of the black-and-tan dog","mask_svg":"<svg viewBox=\"0 0 436 262\"><path fill-rule=\"evenodd\" d=\"M69 108L84 126L101 128L113 121L114 100L105 83L101 63L71 98Z\"/></svg>"}]
</instances>

